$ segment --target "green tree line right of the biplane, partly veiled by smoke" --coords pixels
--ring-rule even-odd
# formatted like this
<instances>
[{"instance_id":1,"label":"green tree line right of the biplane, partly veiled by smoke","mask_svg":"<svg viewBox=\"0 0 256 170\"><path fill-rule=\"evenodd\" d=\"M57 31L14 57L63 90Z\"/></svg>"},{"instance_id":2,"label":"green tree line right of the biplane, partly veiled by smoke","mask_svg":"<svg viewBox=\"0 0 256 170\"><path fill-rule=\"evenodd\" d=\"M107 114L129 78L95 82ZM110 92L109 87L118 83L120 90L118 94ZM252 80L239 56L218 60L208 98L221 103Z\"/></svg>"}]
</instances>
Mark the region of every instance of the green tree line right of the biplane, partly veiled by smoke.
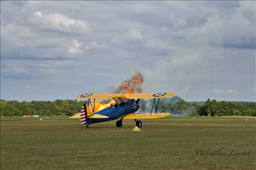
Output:
<instances>
[{"instance_id":1,"label":"green tree line right of the biplane, partly veiled by smoke","mask_svg":"<svg viewBox=\"0 0 256 170\"><path fill-rule=\"evenodd\" d=\"M142 101L142 112L148 112L147 102ZM163 99L159 103L159 112L172 113L175 116L251 116L256 117L255 102L230 102L207 99L205 102L186 102L179 96Z\"/></svg>"}]
</instances>

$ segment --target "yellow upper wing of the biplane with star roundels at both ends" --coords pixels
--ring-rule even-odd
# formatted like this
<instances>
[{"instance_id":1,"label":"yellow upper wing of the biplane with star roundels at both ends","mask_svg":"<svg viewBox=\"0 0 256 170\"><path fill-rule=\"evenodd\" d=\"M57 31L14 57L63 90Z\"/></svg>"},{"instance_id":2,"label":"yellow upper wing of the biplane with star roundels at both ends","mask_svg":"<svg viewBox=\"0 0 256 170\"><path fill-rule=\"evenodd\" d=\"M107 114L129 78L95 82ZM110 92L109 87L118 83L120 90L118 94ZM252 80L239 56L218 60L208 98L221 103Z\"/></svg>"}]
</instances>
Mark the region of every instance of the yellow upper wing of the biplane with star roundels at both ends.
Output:
<instances>
[{"instance_id":1,"label":"yellow upper wing of the biplane with star roundels at both ends","mask_svg":"<svg viewBox=\"0 0 256 170\"><path fill-rule=\"evenodd\" d=\"M140 94L92 94L84 93L77 95L77 99L109 99L109 98L124 98L124 99L153 99L171 97L173 93L140 93Z\"/></svg>"}]
</instances>

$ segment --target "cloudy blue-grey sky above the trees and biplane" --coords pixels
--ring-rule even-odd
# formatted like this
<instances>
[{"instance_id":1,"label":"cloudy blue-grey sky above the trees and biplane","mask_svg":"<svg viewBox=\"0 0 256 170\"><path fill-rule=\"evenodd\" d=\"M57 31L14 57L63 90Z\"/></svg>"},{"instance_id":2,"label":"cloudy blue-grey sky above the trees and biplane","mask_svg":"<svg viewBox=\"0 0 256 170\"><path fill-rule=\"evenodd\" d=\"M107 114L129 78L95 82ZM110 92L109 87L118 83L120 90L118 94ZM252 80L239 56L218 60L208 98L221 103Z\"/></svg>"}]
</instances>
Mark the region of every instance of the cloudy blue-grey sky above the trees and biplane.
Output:
<instances>
[{"instance_id":1,"label":"cloudy blue-grey sky above the trees and biplane","mask_svg":"<svg viewBox=\"0 0 256 170\"><path fill-rule=\"evenodd\" d=\"M1 1L1 99L143 92L255 101L255 1Z\"/></svg>"}]
</instances>

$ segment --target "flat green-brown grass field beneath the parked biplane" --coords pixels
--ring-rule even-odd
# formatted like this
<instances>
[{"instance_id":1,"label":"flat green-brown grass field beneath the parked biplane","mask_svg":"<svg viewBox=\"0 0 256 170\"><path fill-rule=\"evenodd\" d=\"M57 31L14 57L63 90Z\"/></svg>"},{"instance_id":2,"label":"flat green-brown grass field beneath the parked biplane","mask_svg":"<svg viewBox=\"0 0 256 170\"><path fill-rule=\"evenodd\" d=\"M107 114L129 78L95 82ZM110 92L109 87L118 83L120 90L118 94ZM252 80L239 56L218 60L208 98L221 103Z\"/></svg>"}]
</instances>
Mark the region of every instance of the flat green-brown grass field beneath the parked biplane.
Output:
<instances>
[{"instance_id":1,"label":"flat green-brown grass field beneath the parked biplane","mask_svg":"<svg viewBox=\"0 0 256 170\"><path fill-rule=\"evenodd\" d=\"M133 127L1 118L1 169L256 169L255 118L169 117Z\"/></svg>"}]
</instances>

